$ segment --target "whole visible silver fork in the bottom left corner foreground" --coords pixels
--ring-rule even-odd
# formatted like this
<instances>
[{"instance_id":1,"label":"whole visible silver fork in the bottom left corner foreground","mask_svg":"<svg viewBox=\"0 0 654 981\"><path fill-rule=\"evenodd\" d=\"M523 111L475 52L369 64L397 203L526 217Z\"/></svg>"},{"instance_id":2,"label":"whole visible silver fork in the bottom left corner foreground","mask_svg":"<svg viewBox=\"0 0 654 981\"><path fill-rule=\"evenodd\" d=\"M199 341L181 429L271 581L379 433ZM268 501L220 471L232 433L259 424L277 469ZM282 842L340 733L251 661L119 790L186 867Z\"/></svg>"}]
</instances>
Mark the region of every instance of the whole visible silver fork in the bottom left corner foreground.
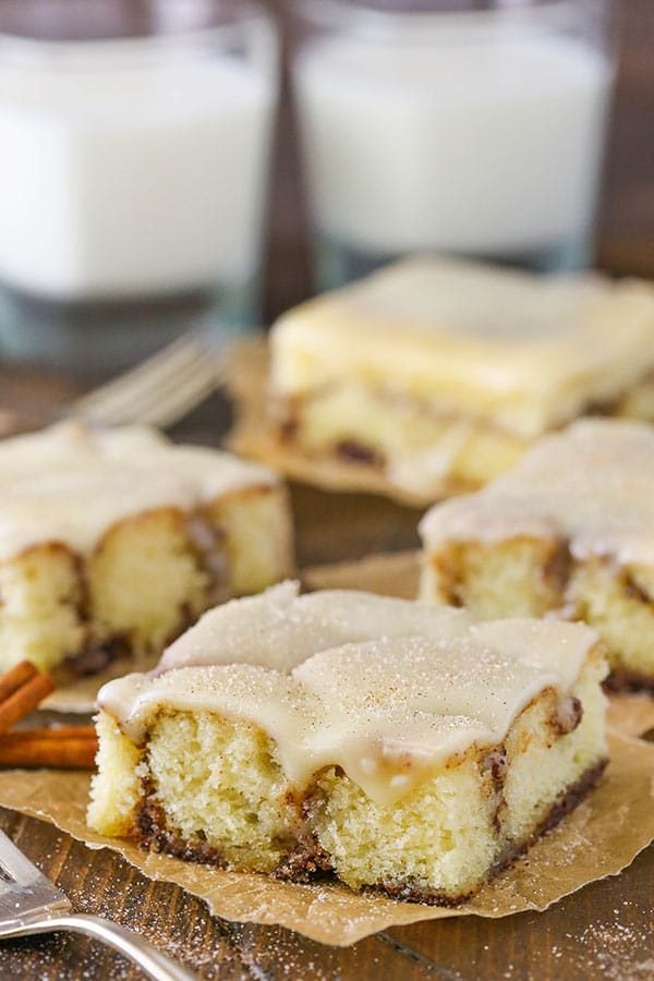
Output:
<instances>
[{"instance_id":1,"label":"whole visible silver fork in the bottom left corner foreground","mask_svg":"<svg viewBox=\"0 0 654 981\"><path fill-rule=\"evenodd\" d=\"M0 940L70 930L102 941L155 981L193 981L155 947L110 920L74 913L68 897L0 832Z\"/></svg>"}]
</instances>

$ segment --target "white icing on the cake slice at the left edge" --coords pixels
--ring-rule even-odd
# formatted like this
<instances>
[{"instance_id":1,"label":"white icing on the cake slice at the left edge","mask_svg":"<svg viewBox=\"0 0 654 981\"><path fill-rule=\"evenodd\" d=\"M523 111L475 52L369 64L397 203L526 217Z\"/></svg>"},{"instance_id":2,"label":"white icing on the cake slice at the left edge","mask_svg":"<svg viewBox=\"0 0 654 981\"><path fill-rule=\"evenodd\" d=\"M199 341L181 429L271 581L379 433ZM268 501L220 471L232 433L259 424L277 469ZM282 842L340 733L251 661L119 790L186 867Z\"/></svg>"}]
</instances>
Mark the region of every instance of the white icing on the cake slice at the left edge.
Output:
<instances>
[{"instance_id":1,"label":"white icing on the cake slice at the left edge","mask_svg":"<svg viewBox=\"0 0 654 981\"><path fill-rule=\"evenodd\" d=\"M0 560L40 542L90 552L117 521L153 508L191 510L275 475L235 457L173 446L145 426L65 422L0 443Z\"/></svg>"}]
</instances>

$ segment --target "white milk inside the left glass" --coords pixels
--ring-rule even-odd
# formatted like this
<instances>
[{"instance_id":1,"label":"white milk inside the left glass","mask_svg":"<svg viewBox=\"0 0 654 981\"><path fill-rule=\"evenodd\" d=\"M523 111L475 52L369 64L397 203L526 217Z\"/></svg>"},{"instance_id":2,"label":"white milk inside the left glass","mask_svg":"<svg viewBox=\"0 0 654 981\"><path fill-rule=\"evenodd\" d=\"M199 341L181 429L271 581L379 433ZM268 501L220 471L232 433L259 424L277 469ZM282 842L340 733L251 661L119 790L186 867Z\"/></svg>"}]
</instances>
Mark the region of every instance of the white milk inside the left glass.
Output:
<instances>
[{"instance_id":1,"label":"white milk inside the left glass","mask_svg":"<svg viewBox=\"0 0 654 981\"><path fill-rule=\"evenodd\" d=\"M0 280L52 299L243 282L272 109L272 81L228 57L0 66Z\"/></svg>"}]
</instances>

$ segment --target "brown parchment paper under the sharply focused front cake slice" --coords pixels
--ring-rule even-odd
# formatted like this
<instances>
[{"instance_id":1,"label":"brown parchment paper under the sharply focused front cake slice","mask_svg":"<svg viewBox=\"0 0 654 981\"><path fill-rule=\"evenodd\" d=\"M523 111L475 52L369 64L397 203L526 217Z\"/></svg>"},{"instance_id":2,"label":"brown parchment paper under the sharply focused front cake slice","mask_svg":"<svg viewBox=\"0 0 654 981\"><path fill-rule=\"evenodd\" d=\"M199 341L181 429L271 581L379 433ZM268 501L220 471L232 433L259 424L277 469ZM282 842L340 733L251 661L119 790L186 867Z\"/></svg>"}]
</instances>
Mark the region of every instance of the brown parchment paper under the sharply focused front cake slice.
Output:
<instances>
[{"instance_id":1,"label":"brown parchment paper under the sharply focused front cake slice","mask_svg":"<svg viewBox=\"0 0 654 981\"><path fill-rule=\"evenodd\" d=\"M469 916L505 917L544 910L607 875L617 875L654 839L654 747L610 736L606 773L572 814L477 896L457 909L360 895L344 886L294 885L265 875L225 872L165 855L150 855L86 826L87 774L55 771L0 773L0 806L41 818L85 841L122 855L149 879L174 882L228 920L280 924L326 944L347 946L388 927Z\"/></svg>"}]
</instances>

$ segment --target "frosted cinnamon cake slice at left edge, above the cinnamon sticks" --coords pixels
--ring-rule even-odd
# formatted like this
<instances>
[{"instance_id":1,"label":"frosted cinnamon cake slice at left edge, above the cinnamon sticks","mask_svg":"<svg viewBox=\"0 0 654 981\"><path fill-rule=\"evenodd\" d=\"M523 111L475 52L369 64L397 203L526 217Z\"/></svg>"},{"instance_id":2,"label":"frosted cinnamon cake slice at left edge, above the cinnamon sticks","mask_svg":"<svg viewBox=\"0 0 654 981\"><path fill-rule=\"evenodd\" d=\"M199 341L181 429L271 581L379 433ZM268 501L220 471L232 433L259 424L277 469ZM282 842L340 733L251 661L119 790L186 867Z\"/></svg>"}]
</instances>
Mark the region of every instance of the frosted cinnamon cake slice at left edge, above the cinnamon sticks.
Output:
<instances>
[{"instance_id":1,"label":"frosted cinnamon cake slice at left edge, above the cinnamon sticks","mask_svg":"<svg viewBox=\"0 0 654 981\"><path fill-rule=\"evenodd\" d=\"M64 423L0 443L0 670L99 670L289 573L270 471L154 429Z\"/></svg>"}]
</instances>

